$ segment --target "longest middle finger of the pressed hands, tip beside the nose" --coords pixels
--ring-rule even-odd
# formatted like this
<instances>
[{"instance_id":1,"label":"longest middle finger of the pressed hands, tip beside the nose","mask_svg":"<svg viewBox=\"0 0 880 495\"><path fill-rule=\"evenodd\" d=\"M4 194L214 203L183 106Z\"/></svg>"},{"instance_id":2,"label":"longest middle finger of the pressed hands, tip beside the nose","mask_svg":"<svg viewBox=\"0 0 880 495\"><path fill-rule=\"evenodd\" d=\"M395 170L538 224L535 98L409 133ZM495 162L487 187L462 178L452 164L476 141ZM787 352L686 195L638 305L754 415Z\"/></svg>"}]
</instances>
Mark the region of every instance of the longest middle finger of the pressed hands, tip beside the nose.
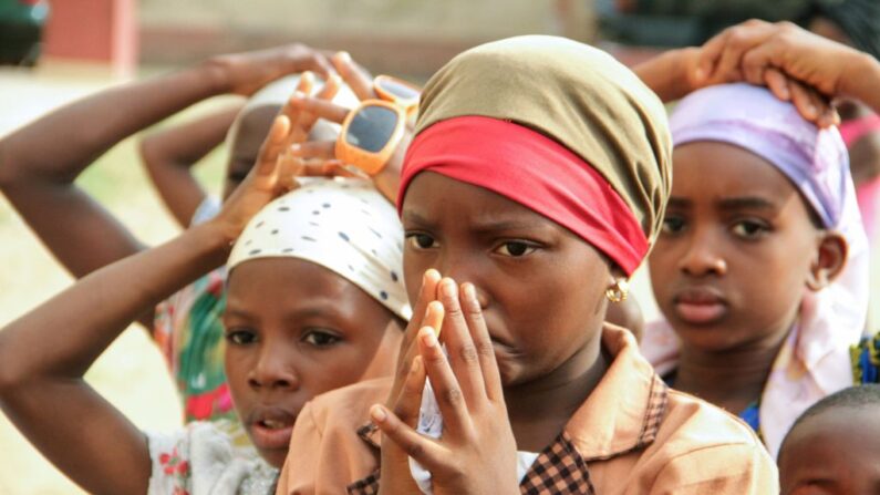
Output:
<instances>
[{"instance_id":1,"label":"longest middle finger of the pressed hands, tip beside the nose","mask_svg":"<svg viewBox=\"0 0 880 495\"><path fill-rule=\"evenodd\" d=\"M444 278L439 285L439 299L445 312L443 320L443 342L446 344L449 364L462 388L469 409L480 408L486 400L486 386L477 348L470 338L455 280Z\"/></svg>"}]
</instances>

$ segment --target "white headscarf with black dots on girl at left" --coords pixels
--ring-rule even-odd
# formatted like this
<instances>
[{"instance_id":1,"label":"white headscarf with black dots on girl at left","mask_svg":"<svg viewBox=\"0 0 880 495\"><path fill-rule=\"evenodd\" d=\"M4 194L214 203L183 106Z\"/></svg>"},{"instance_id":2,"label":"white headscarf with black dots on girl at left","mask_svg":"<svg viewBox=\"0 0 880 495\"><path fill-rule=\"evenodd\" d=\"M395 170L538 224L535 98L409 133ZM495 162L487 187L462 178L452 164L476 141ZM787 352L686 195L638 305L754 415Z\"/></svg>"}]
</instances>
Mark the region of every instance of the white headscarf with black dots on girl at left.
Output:
<instances>
[{"instance_id":1,"label":"white headscarf with black dots on girl at left","mask_svg":"<svg viewBox=\"0 0 880 495\"><path fill-rule=\"evenodd\" d=\"M302 178L301 187L266 205L232 247L231 270L257 258L290 257L328 268L408 320L403 227L369 181Z\"/></svg>"}]
</instances>

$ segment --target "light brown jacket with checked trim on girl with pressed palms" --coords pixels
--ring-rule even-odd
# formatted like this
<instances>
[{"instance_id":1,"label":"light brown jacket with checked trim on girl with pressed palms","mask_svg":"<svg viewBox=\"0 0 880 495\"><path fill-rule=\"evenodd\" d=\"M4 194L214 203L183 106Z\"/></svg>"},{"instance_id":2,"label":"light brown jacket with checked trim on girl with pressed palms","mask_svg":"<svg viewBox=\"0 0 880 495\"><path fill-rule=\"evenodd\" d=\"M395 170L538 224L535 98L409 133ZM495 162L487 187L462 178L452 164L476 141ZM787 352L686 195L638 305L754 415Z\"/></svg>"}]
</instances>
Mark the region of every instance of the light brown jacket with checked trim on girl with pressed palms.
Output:
<instances>
[{"instance_id":1,"label":"light brown jacket with checked trim on girl with pressed palms","mask_svg":"<svg viewBox=\"0 0 880 495\"><path fill-rule=\"evenodd\" d=\"M628 331L607 326L602 344L613 362L532 465L524 493L778 493L776 466L745 423L667 389ZM308 404L277 494L374 493L377 432L365 425L391 383L362 382Z\"/></svg>"}]
</instances>

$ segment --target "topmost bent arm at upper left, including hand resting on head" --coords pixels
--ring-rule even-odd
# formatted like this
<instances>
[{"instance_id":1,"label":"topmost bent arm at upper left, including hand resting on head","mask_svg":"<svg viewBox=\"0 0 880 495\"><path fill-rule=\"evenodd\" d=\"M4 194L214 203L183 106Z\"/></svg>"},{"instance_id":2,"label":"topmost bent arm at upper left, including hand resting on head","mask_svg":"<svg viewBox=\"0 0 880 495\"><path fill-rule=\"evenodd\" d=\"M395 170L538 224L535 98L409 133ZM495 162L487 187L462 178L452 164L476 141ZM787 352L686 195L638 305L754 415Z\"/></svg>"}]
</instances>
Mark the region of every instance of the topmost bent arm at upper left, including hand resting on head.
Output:
<instances>
[{"instance_id":1,"label":"topmost bent arm at upper left, including hand resting on head","mask_svg":"<svg viewBox=\"0 0 880 495\"><path fill-rule=\"evenodd\" d=\"M332 71L323 54L297 44L216 56L85 97L0 141L0 189L59 261L83 277L145 247L74 185L85 167L125 137L196 102L249 95L303 70ZM145 328L152 328L152 312L138 318Z\"/></svg>"}]
</instances>

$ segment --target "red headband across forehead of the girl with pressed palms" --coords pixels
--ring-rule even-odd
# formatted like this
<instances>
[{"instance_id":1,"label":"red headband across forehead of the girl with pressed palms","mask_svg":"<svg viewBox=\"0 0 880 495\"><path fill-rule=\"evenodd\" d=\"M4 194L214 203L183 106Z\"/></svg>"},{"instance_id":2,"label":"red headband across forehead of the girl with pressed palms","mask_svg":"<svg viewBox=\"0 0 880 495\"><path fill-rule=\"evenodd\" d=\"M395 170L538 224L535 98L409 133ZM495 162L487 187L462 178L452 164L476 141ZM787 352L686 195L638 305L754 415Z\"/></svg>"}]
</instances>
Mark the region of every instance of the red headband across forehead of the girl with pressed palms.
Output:
<instances>
[{"instance_id":1,"label":"red headband across forehead of the girl with pressed palms","mask_svg":"<svg viewBox=\"0 0 880 495\"><path fill-rule=\"evenodd\" d=\"M462 116L423 131L406 152L398 214L413 177L426 169L543 215L590 243L628 276L648 254L639 221L611 185L580 156L521 125Z\"/></svg>"}]
</instances>

